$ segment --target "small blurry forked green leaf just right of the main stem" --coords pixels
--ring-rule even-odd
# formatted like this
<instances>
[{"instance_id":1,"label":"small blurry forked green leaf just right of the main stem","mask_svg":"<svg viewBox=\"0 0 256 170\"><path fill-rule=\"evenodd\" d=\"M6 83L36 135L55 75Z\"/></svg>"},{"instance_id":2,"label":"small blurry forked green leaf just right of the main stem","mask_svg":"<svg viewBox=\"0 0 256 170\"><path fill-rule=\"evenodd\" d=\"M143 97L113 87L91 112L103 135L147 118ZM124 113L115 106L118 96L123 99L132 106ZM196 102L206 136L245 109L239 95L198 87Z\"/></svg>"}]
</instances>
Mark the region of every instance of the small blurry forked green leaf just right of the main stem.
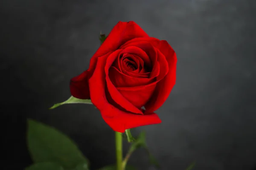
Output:
<instances>
[{"instance_id":1,"label":"small blurry forked green leaf just right of the main stem","mask_svg":"<svg viewBox=\"0 0 256 170\"><path fill-rule=\"evenodd\" d=\"M146 144L146 134L145 132L141 132L140 135L138 136L137 140L131 144L129 152L132 153L134 150L137 150L140 147L143 147L146 149L148 156L149 156L149 162L154 165L157 168L160 168L159 163L157 160L154 158L154 156L149 152L147 144Z\"/></svg>"}]
</instances>

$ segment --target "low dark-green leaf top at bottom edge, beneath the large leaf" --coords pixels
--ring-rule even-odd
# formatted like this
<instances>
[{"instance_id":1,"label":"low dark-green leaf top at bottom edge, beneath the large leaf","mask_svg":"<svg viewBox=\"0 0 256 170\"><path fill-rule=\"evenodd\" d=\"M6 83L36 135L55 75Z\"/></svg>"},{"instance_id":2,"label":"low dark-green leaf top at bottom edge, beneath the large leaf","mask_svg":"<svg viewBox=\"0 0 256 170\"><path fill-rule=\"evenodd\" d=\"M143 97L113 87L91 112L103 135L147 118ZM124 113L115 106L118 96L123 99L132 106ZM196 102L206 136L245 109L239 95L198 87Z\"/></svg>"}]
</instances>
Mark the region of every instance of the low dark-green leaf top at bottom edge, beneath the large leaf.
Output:
<instances>
[{"instance_id":1,"label":"low dark-green leaf top at bottom edge, beneath the large leaf","mask_svg":"<svg viewBox=\"0 0 256 170\"><path fill-rule=\"evenodd\" d=\"M25 170L64 170L60 165L53 162L41 162L26 167Z\"/></svg>"}]
</instances>

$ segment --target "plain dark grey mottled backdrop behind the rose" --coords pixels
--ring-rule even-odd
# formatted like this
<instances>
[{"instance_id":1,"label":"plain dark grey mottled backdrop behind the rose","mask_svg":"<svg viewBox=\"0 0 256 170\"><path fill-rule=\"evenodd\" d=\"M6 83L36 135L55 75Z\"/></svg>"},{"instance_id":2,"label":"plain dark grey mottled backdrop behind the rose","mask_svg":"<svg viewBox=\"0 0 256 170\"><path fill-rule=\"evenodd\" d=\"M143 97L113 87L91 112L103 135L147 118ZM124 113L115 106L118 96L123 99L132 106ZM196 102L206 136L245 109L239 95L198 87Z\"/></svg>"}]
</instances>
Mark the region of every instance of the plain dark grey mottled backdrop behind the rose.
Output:
<instances>
[{"instance_id":1,"label":"plain dark grey mottled backdrop behind the rose","mask_svg":"<svg viewBox=\"0 0 256 170\"><path fill-rule=\"evenodd\" d=\"M1 169L32 163L26 118L69 135L92 170L114 163L113 130L92 105L48 108L70 96L70 78L88 68L99 32L134 20L177 53L176 85L157 111L163 122L134 130L146 130L162 170L184 170L192 161L195 170L252 170L255 17L255 0L1 0ZM154 170L143 150L129 162Z\"/></svg>"}]
</instances>

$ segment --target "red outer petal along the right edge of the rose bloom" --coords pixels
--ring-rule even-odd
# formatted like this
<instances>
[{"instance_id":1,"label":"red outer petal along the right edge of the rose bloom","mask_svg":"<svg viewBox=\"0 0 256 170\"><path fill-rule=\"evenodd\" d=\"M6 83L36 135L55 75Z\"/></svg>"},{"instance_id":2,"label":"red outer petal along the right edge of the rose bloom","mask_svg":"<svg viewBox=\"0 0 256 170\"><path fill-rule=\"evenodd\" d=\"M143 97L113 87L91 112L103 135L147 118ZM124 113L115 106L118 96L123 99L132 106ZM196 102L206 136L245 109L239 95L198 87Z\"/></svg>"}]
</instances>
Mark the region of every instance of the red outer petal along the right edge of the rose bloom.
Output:
<instances>
[{"instance_id":1,"label":"red outer petal along the right edge of the rose bloom","mask_svg":"<svg viewBox=\"0 0 256 170\"><path fill-rule=\"evenodd\" d=\"M154 97L152 97L145 105L145 114L152 113L163 105L176 82L177 57L175 51L165 40L160 41L157 48L166 56L166 60L169 65L169 72L160 82L157 83L153 94Z\"/></svg>"}]
</instances>

